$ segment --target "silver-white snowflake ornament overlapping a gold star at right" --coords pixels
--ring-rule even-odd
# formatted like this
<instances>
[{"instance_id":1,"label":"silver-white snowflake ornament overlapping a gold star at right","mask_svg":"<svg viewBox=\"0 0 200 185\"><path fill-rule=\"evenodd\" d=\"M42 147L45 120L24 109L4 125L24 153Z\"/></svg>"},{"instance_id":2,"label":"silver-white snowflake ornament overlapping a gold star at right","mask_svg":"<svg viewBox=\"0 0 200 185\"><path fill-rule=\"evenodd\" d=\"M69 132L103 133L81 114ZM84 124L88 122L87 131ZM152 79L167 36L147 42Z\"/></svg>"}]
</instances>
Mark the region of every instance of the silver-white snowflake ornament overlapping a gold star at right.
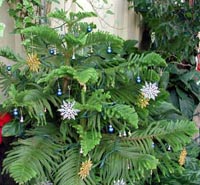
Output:
<instances>
[{"instance_id":1,"label":"silver-white snowflake ornament overlapping a gold star at right","mask_svg":"<svg viewBox=\"0 0 200 185\"><path fill-rule=\"evenodd\" d=\"M141 92L145 98L155 100L160 91L158 90L158 86L156 83L145 82L145 85L142 87Z\"/></svg>"}]
</instances>

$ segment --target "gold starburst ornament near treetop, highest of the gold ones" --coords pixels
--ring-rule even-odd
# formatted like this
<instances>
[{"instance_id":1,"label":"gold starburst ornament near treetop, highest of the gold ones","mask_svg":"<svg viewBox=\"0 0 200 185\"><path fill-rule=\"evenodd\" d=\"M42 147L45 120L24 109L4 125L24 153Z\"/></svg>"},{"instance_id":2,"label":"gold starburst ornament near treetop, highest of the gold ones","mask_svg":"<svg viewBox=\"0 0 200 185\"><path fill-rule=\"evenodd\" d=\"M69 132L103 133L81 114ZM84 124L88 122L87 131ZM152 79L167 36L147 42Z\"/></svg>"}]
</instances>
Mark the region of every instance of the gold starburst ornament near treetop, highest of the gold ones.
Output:
<instances>
[{"instance_id":1,"label":"gold starburst ornament near treetop, highest of the gold ones","mask_svg":"<svg viewBox=\"0 0 200 185\"><path fill-rule=\"evenodd\" d=\"M30 70L33 72L38 72L40 68L40 61L37 57L37 54L28 54L27 57L27 65L29 66Z\"/></svg>"}]
</instances>

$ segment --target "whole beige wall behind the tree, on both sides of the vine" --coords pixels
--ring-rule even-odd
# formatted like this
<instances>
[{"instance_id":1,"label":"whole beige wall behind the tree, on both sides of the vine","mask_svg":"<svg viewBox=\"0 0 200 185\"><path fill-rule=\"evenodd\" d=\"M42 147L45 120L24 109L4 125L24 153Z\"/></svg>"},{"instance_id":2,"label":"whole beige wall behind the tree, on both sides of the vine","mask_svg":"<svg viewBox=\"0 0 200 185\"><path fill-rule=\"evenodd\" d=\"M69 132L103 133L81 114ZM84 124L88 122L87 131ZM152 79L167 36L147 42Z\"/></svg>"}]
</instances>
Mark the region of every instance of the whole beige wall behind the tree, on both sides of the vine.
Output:
<instances>
[{"instance_id":1,"label":"whole beige wall behind the tree, on both sides of the vine","mask_svg":"<svg viewBox=\"0 0 200 185\"><path fill-rule=\"evenodd\" d=\"M93 7L89 1L93 2ZM60 0L59 5L55 3L52 5L52 11L60 7L78 12L80 8L77 5L72 5L71 2L72 0ZM98 13L98 18L92 18L87 21L97 24L99 30L111 32L124 39L139 40L140 29L138 25L140 17L136 15L133 10L128 10L128 3L126 0L109 0L109 4L107 5L103 4L103 0L78 0L78 3L80 3L85 11L96 11ZM114 14L107 14L106 11L108 9ZM20 44L20 36L11 33L14 28L14 23L7 11L8 5L4 2L3 6L0 7L0 22L3 22L6 28L4 37L0 37L0 48L8 46L15 50L16 53L23 53L23 48ZM0 61L5 60L0 58Z\"/></svg>"}]
</instances>

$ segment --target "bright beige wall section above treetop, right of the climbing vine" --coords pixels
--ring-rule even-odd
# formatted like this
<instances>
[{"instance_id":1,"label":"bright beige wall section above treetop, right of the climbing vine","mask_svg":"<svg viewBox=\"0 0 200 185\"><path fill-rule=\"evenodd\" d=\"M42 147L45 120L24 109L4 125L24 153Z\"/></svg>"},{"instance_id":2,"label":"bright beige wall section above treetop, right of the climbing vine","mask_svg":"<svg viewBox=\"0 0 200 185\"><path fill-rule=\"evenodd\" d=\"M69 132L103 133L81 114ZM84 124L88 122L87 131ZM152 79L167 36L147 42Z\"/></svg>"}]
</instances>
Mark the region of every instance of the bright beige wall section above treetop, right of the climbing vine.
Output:
<instances>
[{"instance_id":1,"label":"bright beige wall section above treetop, right of the climbing vine","mask_svg":"<svg viewBox=\"0 0 200 185\"><path fill-rule=\"evenodd\" d=\"M60 5L54 3L52 11L58 7L71 9L74 12L81 10L78 5L72 5L71 2L72 0L65 3L62 1ZM98 14L98 18L87 21L94 22L99 30L108 31L124 39L140 40L140 16L133 10L128 10L126 0L109 0L108 4L104 4L103 0L78 0L77 2L85 11L95 11ZM113 15L106 13L107 10L112 11ZM53 25L56 23L54 22Z\"/></svg>"}]
</instances>

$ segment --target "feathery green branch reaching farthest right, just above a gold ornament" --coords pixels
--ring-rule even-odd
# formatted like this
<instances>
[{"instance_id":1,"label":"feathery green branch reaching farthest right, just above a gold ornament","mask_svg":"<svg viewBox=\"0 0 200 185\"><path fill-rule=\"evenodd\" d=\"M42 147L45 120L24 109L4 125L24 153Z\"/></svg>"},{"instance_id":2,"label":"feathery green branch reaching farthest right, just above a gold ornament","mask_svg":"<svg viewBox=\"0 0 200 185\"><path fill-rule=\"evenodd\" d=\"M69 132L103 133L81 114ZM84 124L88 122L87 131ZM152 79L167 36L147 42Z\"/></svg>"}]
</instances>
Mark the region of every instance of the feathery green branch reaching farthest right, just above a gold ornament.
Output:
<instances>
[{"instance_id":1,"label":"feathery green branch reaching farthest right, just above a gold ornament","mask_svg":"<svg viewBox=\"0 0 200 185\"><path fill-rule=\"evenodd\" d=\"M174 151L178 151L191 141L196 132L197 129L194 122L188 120L176 122L162 120L150 123L147 128L135 131L131 137L123 138L123 140L135 144L140 144L142 140L146 146L155 140L162 146L165 146L165 143L167 143ZM146 147L144 146L144 148ZM166 150L166 148L163 149Z\"/></svg>"}]
</instances>

